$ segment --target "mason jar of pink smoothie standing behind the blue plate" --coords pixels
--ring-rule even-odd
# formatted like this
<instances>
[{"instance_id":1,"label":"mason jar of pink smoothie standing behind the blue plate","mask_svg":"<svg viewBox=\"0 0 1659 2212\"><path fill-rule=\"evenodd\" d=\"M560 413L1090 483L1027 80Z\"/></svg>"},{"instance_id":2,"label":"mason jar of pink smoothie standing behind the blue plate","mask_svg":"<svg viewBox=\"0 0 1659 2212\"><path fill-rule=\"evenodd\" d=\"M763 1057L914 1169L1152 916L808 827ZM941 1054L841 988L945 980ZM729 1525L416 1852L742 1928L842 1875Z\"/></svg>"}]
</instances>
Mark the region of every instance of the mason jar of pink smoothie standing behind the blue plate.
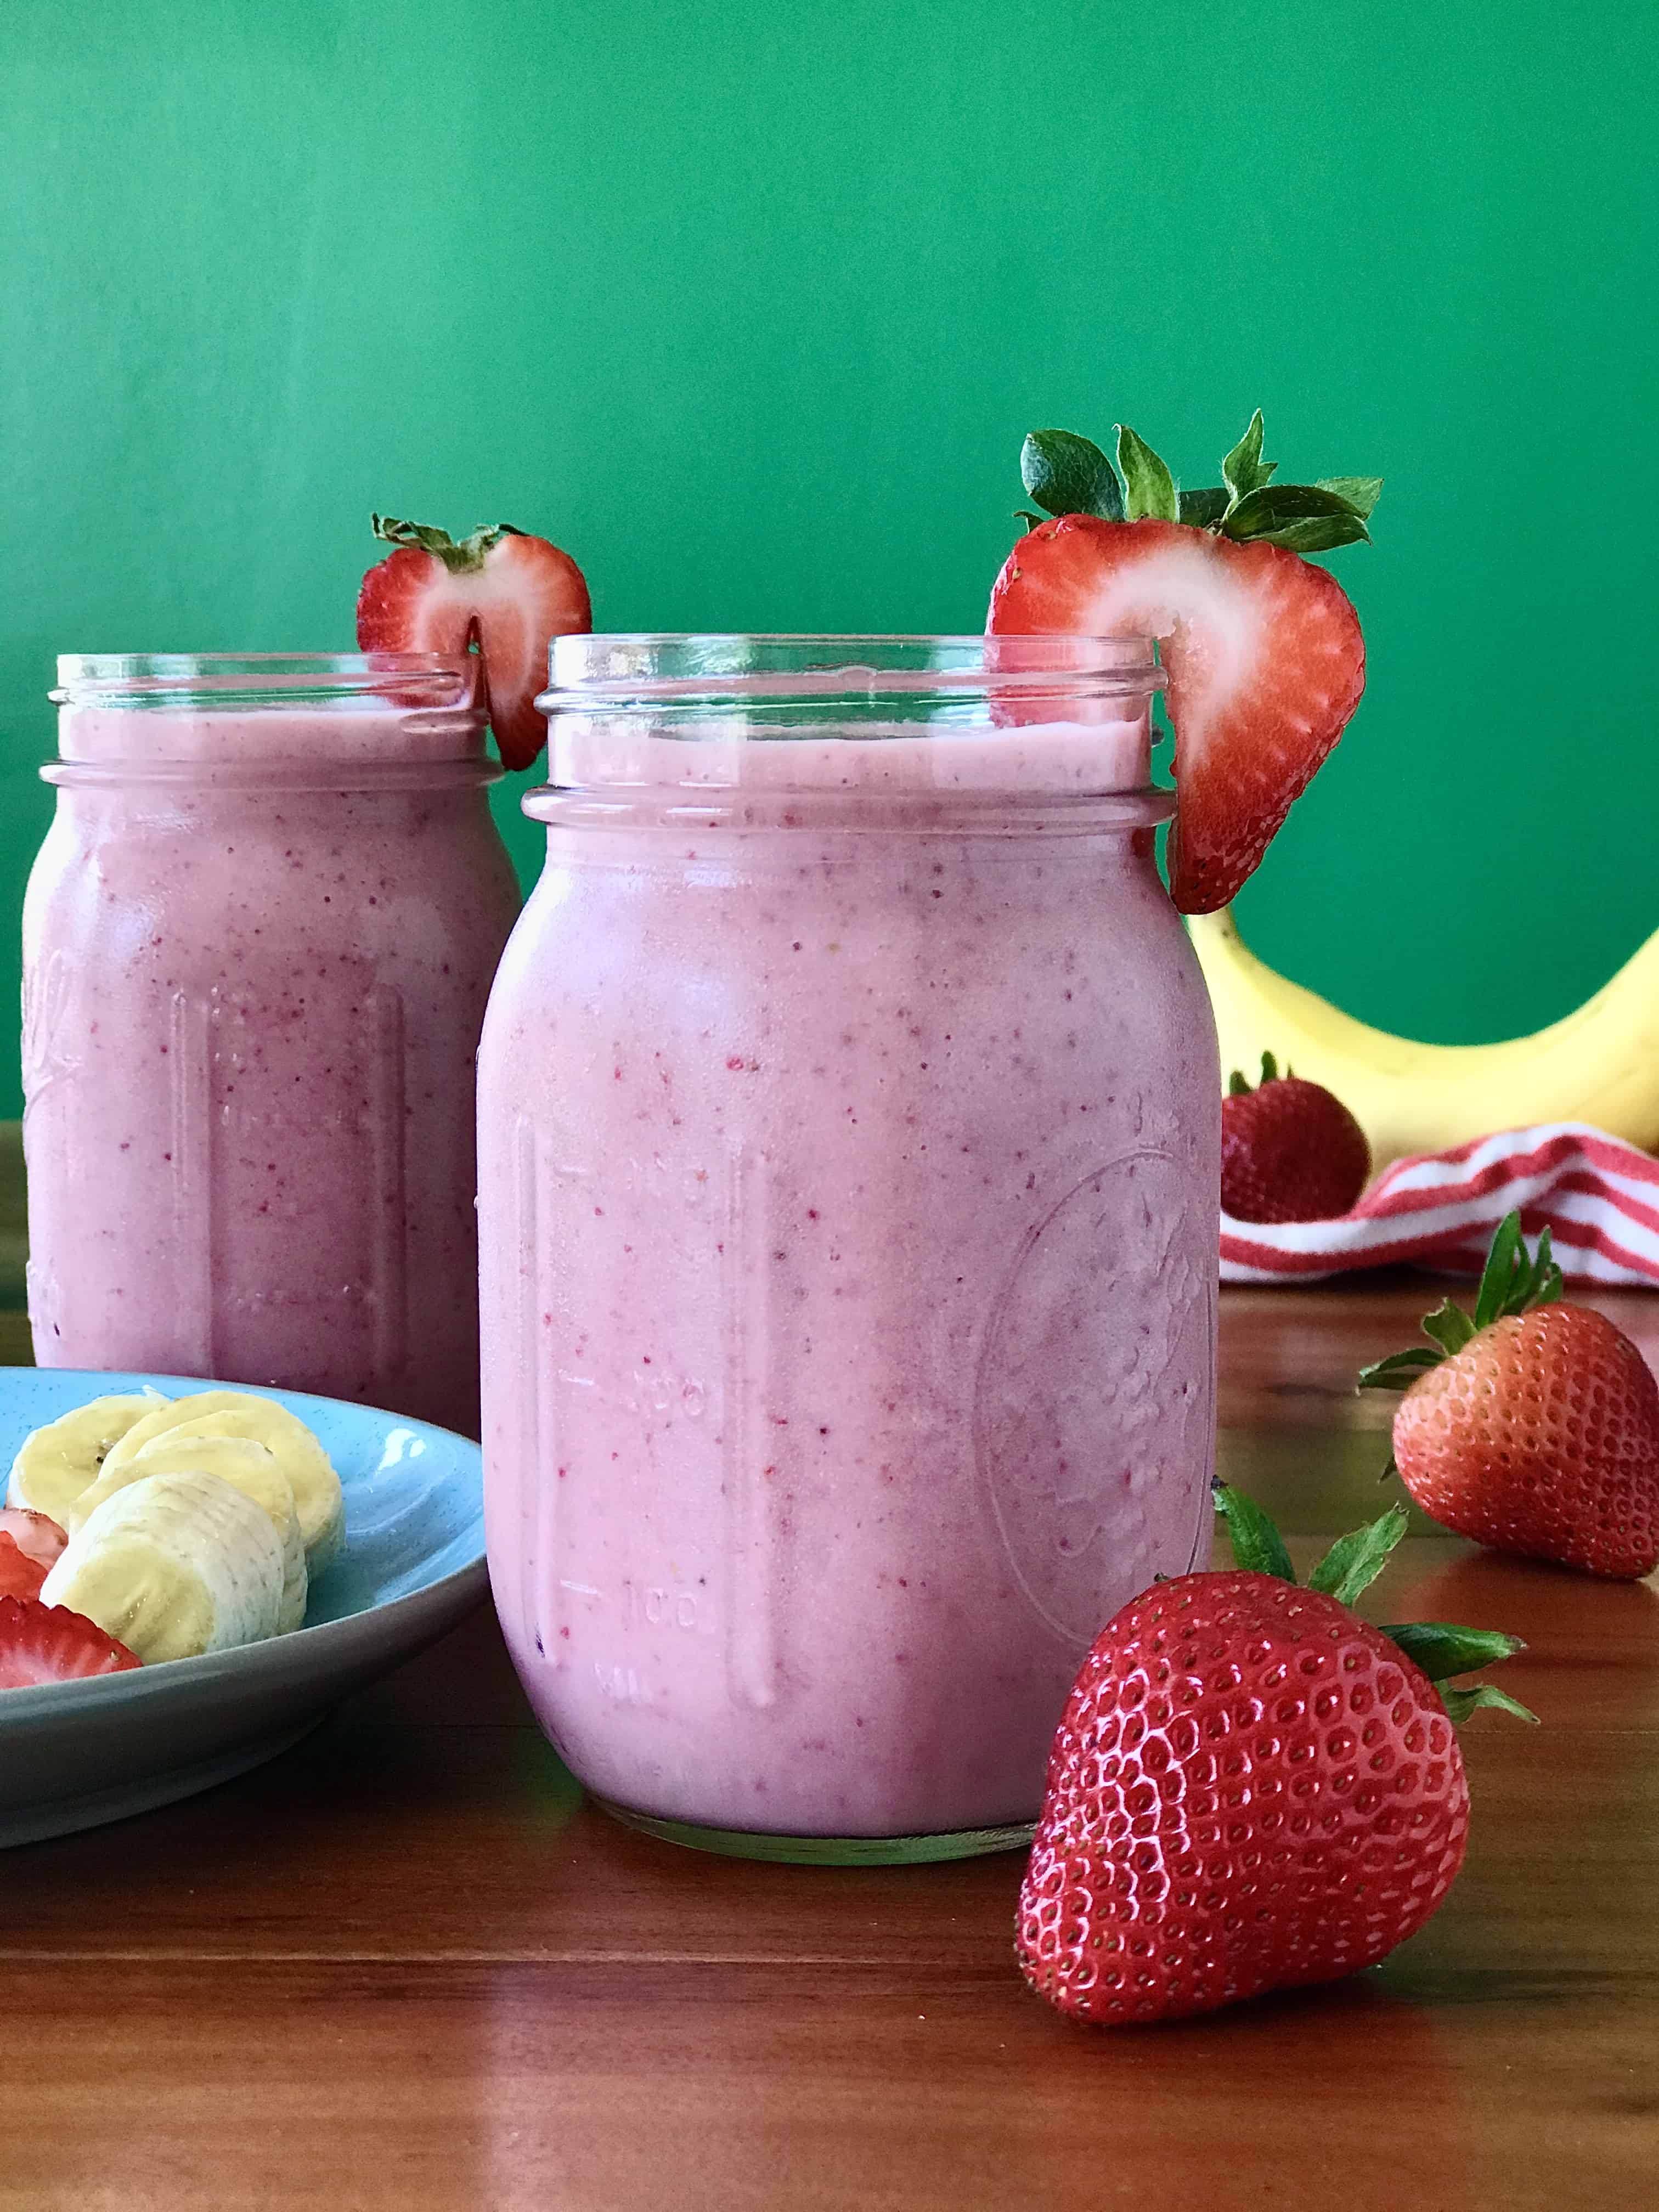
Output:
<instances>
[{"instance_id":1,"label":"mason jar of pink smoothie standing behind the blue plate","mask_svg":"<svg viewBox=\"0 0 1659 2212\"><path fill-rule=\"evenodd\" d=\"M473 1055L518 916L478 661L58 670L24 902L35 1358L476 1436Z\"/></svg>"}]
</instances>

